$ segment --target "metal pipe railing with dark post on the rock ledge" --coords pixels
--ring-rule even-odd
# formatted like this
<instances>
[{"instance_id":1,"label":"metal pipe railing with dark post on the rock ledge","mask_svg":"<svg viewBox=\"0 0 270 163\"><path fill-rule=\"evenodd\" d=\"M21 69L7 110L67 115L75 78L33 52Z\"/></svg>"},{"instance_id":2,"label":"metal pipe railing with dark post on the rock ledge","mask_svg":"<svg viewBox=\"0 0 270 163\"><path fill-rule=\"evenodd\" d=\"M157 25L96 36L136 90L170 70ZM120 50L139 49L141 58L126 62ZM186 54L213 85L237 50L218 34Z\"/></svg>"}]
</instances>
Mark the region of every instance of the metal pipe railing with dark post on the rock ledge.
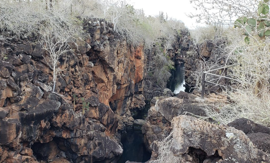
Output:
<instances>
[{"instance_id":1,"label":"metal pipe railing with dark post on the rock ledge","mask_svg":"<svg viewBox=\"0 0 270 163\"><path fill-rule=\"evenodd\" d=\"M224 79L225 79L224 85L227 85L229 80L234 80L234 81L240 82L240 81L237 80L237 79L228 77L227 68L228 68L228 67L231 67L231 66L235 66L235 65L239 65L239 63L238 63L238 64L233 64L233 65L224 66L224 67L220 67L220 68L216 68L216 69L214 69L214 70L204 71L204 72L203 72L203 76L202 76L202 93L201 93L201 98L204 99L204 87L205 87L205 83L211 84L211 85L213 85L213 86L216 86L216 85L223 86L223 85L220 85L220 84L217 84L217 83L213 83L214 81L219 80L219 79L221 79L221 78L224 78ZM221 69L225 69L225 75L224 75L224 76L222 76L222 75L216 75L216 74L210 73L210 72L212 72L212 71L221 70ZM212 79L212 80L210 80L210 81L205 81L205 75L206 75L206 74L208 74L208 75L213 75L213 76L216 76L216 77L219 77L219 78Z\"/></svg>"}]
</instances>

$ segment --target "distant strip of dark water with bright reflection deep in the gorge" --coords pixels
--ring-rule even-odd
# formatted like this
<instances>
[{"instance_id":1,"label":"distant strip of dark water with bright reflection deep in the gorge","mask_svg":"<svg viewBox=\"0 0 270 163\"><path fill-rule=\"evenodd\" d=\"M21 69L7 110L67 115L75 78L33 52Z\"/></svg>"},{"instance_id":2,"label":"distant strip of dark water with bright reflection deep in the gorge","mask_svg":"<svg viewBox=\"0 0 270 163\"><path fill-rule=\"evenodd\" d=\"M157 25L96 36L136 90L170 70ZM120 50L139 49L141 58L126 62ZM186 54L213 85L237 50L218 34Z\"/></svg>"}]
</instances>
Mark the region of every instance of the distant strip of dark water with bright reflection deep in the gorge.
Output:
<instances>
[{"instance_id":1,"label":"distant strip of dark water with bright reflection deep in the gorge","mask_svg":"<svg viewBox=\"0 0 270 163\"><path fill-rule=\"evenodd\" d=\"M173 93L177 94L180 91L185 91L185 67L184 64L176 64L175 70L171 71L171 78L167 84L167 88L169 88Z\"/></svg>"}]
</instances>

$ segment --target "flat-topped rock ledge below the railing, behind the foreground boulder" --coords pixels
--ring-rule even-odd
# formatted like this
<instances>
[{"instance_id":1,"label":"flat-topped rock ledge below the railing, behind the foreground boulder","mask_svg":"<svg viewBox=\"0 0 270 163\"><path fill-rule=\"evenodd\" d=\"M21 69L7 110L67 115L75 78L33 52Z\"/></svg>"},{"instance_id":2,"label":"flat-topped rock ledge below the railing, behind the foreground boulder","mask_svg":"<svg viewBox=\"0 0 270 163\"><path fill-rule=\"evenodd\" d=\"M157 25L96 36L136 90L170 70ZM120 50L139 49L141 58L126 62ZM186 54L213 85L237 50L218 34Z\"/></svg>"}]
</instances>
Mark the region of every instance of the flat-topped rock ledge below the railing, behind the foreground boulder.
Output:
<instances>
[{"instance_id":1,"label":"flat-topped rock ledge below the railing, behind the foreground boulder","mask_svg":"<svg viewBox=\"0 0 270 163\"><path fill-rule=\"evenodd\" d=\"M200 92L180 92L177 97L155 97L151 100L146 123L142 127L144 144L147 150L153 151L151 144L162 141L167 137L172 128L171 121L179 115L206 116L203 107L216 102L223 102L226 97L220 95L206 95L205 100L200 97Z\"/></svg>"}]
</instances>

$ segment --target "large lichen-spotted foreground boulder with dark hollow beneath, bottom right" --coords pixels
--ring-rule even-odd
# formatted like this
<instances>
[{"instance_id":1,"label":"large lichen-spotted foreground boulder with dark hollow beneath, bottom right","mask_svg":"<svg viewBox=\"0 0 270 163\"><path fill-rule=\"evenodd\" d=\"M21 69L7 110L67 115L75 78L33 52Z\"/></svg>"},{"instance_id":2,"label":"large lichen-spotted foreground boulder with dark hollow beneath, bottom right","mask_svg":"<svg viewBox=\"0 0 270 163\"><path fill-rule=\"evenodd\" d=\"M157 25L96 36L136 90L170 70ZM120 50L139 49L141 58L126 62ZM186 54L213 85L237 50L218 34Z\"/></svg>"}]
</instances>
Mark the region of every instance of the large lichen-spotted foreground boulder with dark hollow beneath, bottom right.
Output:
<instances>
[{"instance_id":1,"label":"large lichen-spotted foreground boulder with dark hollow beneath, bottom right","mask_svg":"<svg viewBox=\"0 0 270 163\"><path fill-rule=\"evenodd\" d=\"M175 117L172 126L171 151L177 157L193 151L203 162L270 162L269 154L256 148L244 132L233 127L185 115ZM195 161L194 156L190 162Z\"/></svg>"}]
</instances>

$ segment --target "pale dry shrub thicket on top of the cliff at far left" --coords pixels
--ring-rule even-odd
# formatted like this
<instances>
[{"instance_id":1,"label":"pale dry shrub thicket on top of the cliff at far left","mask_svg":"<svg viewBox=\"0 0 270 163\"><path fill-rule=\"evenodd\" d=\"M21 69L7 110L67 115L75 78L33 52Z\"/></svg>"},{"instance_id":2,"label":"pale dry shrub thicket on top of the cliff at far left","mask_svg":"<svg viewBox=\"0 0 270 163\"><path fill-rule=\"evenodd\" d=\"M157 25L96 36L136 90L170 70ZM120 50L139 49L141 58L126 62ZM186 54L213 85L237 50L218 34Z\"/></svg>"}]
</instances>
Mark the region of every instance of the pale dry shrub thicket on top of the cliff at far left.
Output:
<instances>
[{"instance_id":1,"label":"pale dry shrub thicket on top of the cliff at far left","mask_svg":"<svg viewBox=\"0 0 270 163\"><path fill-rule=\"evenodd\" d=\"M82 37L80 21L62 5L46 9L46 4L40 1L3 0L0 6L1 31L18 36L46 36L49 33L58 38L69 37L71 42Z\"/></svg>"}]
</instances>

